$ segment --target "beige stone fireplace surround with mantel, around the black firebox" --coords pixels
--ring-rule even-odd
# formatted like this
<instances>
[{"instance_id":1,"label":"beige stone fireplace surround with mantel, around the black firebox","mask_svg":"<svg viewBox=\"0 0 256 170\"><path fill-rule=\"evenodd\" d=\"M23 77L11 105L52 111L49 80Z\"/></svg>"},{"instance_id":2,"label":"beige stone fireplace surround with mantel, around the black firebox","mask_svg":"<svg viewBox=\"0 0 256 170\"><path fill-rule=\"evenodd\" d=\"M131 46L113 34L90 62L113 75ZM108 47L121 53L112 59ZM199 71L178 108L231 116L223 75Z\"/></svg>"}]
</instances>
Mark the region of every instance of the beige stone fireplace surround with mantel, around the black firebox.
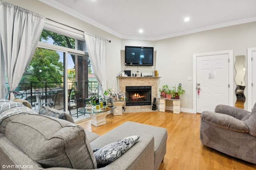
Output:
<instances>
[{"instance_id":1,"label":"beige stone fireplace surround with mantel, around the black firebox","mask_svg":"<svg viewBox=\"0 0 256 170\"><path fill-rule=\"evenodd\" d=\"M157 97L157 81L159 77L118 77L119 83L119 92L125 93L126 86L151 86L151 101L153 102L154 98ZM156 100L158 101L158 100ZM151 105L146 106L125 106L125 110L127 111L141 111L142 109L151 110Z\"/></svg>"}]
</instances>

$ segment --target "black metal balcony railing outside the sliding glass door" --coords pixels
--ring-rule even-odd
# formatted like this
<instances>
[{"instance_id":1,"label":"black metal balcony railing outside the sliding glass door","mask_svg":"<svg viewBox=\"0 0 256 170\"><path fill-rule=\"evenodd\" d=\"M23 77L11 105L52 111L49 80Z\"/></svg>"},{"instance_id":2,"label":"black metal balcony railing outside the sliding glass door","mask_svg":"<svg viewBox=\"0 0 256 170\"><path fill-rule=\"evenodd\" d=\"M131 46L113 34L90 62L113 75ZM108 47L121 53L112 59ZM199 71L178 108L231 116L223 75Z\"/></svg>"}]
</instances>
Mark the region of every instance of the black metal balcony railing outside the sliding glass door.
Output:
<instances>
[{"instance_id":1,"label":"black metal balcony railing outside the sliding glass door","mask_svg":"<svg viewBox=\"0 0 256 170\"><path fill-rule=\"evenodd\" d=\"M14 90L14 95L16 98L28 100L33 110L39 110L40 106L44 103L53 106L54 96L56 96L58 90L63 90L64 87L62 85L50 84L63 84L63 82L22 83L22 86L18 86ZM90 98L91 96L98 95L98 82L88 82L87 86L88 88L84 89L88 89L88 91L83 92L83 97ZM6 87L9 93L8 83L6 83ZM73 94L75 87L75 83L74 85L68 85L68 89L72 89L71 94Z\"/></svg>"}]
</instances>

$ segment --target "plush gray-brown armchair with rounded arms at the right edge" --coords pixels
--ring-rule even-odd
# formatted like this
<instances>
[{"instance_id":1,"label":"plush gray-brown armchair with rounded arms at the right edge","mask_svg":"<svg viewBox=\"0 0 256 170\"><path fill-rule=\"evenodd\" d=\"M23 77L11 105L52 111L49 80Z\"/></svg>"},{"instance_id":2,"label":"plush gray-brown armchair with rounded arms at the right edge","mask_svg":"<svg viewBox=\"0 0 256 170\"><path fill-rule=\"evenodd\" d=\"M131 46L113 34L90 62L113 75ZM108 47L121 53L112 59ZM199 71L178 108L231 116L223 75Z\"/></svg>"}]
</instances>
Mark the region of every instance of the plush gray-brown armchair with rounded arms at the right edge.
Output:
<instances>
[{"instance_id":1,"label":"plush gray-brown armchair with rounded arms at the right edge","mask_svg":"<svg viewBox=\"0 0 256 170\"><path fill-rule=\"evenodd\" d=\"M205 146L256 164L256 104L252 112L226 105L202 112L200 140Z\"/></svg>"}]
</instances>

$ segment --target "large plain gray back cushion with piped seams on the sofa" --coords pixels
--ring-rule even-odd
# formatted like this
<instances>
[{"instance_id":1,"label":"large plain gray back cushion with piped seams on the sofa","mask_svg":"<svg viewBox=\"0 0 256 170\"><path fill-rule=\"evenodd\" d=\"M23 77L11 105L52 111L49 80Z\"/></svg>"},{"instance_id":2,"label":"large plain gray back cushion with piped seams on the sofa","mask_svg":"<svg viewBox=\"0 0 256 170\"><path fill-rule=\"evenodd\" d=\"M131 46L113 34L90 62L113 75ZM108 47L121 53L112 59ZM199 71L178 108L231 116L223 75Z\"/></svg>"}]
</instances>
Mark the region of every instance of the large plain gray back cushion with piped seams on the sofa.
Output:
<instances>
[{"instance_id":1,"label":"large plain gray back cushion with piped seams on the sofa","mask_svg":"<svg viewBox=\"0 0 256 170\"><path fill-rule=\"evenodd\" d=\"M39 114L8 122L5 135L43 168L93 169L96 159L82 126Z\"/></svg>"}]
</instances>

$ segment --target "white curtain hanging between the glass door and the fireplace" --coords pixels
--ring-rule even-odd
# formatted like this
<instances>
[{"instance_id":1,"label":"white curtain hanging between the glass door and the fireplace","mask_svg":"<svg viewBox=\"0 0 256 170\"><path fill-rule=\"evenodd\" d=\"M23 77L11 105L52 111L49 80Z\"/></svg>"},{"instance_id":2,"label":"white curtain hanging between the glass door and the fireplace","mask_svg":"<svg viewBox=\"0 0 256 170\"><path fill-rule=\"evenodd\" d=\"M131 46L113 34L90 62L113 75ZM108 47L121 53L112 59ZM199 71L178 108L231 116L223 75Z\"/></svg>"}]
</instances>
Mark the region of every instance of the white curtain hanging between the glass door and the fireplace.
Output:
<instances>
[{"instance_id":1,"label":"white curtain hanging between the glass door and the fireplace","mask_svg":"<svg viewBox=\"0 0 256 170\"><path fill-rule=\"evenodd\" d=\"M85 42L92 63L92 70L100 84L100 94L106 90L106 44L108 40L85 33Z\"/></svg>"}]
</instances>

